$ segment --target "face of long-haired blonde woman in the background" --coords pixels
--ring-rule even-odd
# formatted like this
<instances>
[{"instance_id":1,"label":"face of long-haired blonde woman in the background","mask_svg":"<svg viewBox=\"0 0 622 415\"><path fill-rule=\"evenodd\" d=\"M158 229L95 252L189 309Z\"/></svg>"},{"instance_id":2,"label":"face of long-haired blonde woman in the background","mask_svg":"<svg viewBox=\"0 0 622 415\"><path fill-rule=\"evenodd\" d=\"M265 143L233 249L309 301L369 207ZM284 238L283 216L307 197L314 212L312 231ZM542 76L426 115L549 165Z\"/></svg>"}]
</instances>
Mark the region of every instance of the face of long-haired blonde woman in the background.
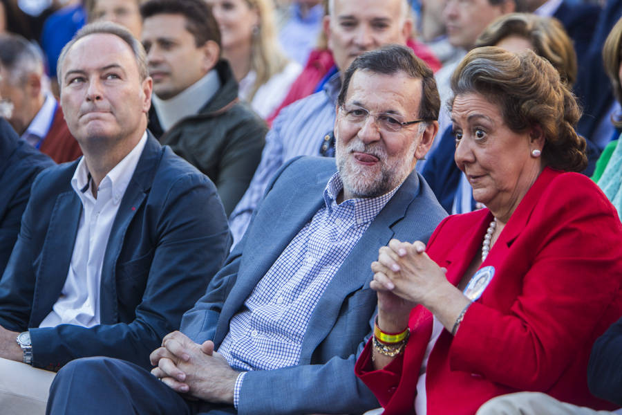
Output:
<instances>
[{"instance_id":1,"label":"face of long-haired blonde woman in the background","mask_svg":"<svg viewBox=\"0 0 622 415\"><path fill-rule=\"evenodd\" d=\"M259 25L257 8L246 0L205 0L211 6L218 27L220 44L223 49L236 46L249 47L252 43L253 28Z\"/></svg>"}]
</instances>

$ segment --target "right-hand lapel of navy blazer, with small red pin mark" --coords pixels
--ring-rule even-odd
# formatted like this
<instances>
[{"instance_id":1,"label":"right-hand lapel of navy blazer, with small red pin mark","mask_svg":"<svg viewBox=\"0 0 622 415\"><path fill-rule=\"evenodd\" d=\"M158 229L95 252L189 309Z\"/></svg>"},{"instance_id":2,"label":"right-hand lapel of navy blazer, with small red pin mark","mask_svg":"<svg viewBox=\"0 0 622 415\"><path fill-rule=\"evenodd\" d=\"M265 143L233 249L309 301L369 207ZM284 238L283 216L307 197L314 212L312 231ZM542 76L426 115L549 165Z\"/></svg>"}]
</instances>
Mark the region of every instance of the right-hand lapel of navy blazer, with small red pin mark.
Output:
<instances>
[{"instance_id":1,"label":"right-hand lapel of navy blazer, with small red pin mark","mask_svg":"<svg viewBox=\"0 0 622 415\"><path fill-rule=\"evenodd\" d=\"M123 247L125 232L136 212L147 198L153 176L156 174L164 149L147 132L147 143L142 150L138 165L121 199L117 216L110 232L104 262L102 264L102 283L100 286L100 320L102 324L114 324L118 321L116 264Z\"/></svg>"}]
</instances>

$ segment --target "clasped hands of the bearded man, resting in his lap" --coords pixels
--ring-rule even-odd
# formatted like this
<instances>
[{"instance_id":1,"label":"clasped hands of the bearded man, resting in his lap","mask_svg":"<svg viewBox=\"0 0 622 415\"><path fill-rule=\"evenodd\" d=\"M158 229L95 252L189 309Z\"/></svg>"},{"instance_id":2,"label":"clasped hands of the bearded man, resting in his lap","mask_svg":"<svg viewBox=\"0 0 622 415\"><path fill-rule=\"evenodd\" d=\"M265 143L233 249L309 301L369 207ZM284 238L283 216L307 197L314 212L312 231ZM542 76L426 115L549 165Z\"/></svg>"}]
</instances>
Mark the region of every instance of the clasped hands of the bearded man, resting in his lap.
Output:
<instances>
[{"instance_id":1,"label":"clasped hands of the bearded man, resting in his lap","mask_svg":"<svg viewBox=\"0 0 622 415\"><path fill-rule=\"evenodd\" d=\"M162 347L149 356L155 366L151 374L187 397L212 403L233 404L234 387L240 372L229 366L214 342L198 344L180 331L164 336Z\"/></svg>"}]
</instances>

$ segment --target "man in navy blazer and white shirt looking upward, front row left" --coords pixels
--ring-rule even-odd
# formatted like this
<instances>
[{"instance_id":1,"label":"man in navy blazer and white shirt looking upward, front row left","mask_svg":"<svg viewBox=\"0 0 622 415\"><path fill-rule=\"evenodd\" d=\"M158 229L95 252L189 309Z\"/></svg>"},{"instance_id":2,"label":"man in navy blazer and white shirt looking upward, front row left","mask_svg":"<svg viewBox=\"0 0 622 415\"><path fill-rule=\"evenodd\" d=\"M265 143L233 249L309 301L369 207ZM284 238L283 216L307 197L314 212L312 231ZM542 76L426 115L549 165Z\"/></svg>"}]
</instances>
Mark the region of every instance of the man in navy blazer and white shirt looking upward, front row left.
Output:
<instances>
[{"instance_id":1,"label":"man in navy blazer and white shirt looking upward, front row left","mask_svg":"<svg viewBox=\"0 0 622 415\"><path fill-rule=\"evenodd\" d=\"M229 250L213 183L147 132L151 77L129 31L85 26L59 84L84 157L39 174L0 280L3 414L43 412L50 372L35 368L85 356L149 367Z\"/></svg>"}]
</instances>

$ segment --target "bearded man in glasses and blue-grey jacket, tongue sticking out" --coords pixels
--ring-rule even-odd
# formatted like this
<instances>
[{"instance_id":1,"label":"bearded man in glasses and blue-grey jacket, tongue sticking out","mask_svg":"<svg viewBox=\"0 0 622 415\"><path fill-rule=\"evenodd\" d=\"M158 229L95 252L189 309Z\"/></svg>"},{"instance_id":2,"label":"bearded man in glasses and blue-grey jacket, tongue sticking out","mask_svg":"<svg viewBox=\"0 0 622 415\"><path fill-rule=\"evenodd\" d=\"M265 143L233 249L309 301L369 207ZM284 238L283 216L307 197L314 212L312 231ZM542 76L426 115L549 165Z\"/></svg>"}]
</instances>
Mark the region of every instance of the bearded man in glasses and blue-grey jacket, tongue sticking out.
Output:
<instances>
[{"instance_id":1,"label":"bearded man in glasses and blue-grey jacket, tongue sticking out","mask_svg":"<svg viewBox=\"0 0 622 415\"><path fill-rule=\"evenodd\" d=\"M151 374L109 358L70 363L50 389L48 412L377 407L354 375L373 327L370 264L392 238L427 240L444 216L413 172L437 132L439 106L432 71L408 48L359 56L339 95L337 172L331 159L291 160L181 332L151 353Z\"/></svg>"}]
</instances>

